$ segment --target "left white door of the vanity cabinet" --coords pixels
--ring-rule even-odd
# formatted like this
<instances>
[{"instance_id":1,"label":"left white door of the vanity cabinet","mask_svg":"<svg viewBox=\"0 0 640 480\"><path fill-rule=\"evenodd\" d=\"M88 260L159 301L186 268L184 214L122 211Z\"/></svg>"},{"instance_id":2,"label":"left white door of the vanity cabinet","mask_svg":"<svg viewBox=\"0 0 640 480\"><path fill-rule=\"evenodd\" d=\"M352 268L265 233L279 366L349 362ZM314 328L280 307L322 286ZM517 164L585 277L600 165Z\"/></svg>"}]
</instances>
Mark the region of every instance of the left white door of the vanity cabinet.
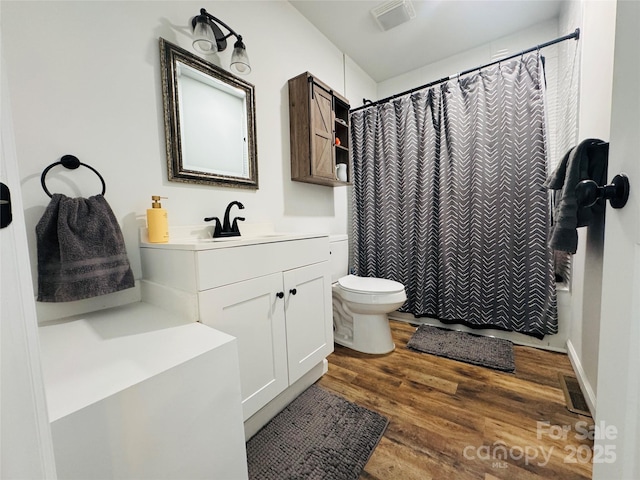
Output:
<instances>
[{"instance_id":1,"label":"left white door of the vanity cabinet","mask_svg":"<svg viewBox=\"0 0 640 480\"><path fill-rule=\"evenodd\" d=\"M244 420L288 386L282 274L201 292L200 320L238 339ZM286 299L286 296L285 296Z\"/></svg>"}]
</instances>

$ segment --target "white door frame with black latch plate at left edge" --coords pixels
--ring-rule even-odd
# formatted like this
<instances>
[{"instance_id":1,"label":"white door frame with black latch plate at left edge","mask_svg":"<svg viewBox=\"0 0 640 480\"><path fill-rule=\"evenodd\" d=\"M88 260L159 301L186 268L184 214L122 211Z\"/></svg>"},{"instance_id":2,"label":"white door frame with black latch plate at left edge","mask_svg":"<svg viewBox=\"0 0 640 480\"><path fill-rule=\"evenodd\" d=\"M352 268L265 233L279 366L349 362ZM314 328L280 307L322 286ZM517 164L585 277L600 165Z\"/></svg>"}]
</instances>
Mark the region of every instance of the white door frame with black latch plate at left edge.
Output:
<instances>
[{"instance_id":1,"label":"white door frame with black latch plate at left edge","mask_svg":"<svg viewBox=\"0 0 640 480\"><path fill-rule=\"evenodd\" d=\"M40 364L40 344L27 244L20 175L11 119L7 68L2 65L0 174L11 191L13 221L0 230L2 298L0 299L0 477L55 479L51 427ZM10 294L7 294L7 291Z\"/></svg>"}]
</instances>

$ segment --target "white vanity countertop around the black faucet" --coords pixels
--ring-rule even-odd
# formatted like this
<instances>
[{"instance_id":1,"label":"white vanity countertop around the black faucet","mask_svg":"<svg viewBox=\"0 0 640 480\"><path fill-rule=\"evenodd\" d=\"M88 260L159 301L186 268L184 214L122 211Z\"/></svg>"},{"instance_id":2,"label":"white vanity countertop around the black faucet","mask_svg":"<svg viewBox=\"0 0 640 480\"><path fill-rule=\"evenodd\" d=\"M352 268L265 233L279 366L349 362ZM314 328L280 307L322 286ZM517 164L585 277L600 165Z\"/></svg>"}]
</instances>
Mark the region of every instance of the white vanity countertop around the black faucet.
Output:
<instances>
[{"instance_id":1,"label":"white vanity countertop around the black faucet","mask_svg":"<svg viewBox=\"0 0 640 480\"><path fill-rule=\"evenodd\" d=\"M212 231L212 227L207 226L172 227L169 229L169 242L150 243L147 239L146 228L142 228L140 230L140 247L169 250L214 250L329 236L327 233L275 232L268 227L258 225L243 228L242 235L238 237L212 238Z\"/></svg>"}]
</instances>

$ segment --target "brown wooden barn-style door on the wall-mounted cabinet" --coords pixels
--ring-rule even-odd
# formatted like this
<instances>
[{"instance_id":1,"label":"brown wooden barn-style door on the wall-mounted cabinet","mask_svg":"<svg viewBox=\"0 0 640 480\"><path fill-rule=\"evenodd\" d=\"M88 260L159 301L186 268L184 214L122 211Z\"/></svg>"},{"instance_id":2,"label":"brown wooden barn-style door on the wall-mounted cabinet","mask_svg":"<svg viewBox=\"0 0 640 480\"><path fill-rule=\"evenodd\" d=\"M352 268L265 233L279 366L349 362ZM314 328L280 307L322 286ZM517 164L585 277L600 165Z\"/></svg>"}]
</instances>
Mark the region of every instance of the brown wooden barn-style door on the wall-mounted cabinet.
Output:
<instances>
[{"instance_id":1,"label":"brown wooden barn-style door on the wall-mounted cabinet","mask_svg":"<svg viewBox=\"0 0 640 480\"><path fill-rule=\"evenodd\" d=\"M310 87L311 175L335 180L333 96L313 82Z\"/></svg>"}]
</instances>

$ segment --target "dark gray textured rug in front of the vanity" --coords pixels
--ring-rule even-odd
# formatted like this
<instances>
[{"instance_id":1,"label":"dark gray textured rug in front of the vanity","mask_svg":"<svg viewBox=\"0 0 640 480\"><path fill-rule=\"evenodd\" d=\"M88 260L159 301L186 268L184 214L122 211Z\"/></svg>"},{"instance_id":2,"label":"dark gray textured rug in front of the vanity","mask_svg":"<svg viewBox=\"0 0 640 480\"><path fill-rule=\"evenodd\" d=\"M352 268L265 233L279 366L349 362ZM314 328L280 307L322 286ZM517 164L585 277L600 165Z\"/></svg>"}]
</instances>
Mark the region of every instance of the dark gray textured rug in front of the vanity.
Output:
<instances>
[{"instance_id":1,"label":"dark gray textured rug in front of the vanity","mask_svg":"<svg viewBox=\"0 0 640 480\"><path fill-rule=\"evenodd\" d=\"M249 478L357 480L388 423L312 385L249 439Z\"/></svg>"}]
</instances>

